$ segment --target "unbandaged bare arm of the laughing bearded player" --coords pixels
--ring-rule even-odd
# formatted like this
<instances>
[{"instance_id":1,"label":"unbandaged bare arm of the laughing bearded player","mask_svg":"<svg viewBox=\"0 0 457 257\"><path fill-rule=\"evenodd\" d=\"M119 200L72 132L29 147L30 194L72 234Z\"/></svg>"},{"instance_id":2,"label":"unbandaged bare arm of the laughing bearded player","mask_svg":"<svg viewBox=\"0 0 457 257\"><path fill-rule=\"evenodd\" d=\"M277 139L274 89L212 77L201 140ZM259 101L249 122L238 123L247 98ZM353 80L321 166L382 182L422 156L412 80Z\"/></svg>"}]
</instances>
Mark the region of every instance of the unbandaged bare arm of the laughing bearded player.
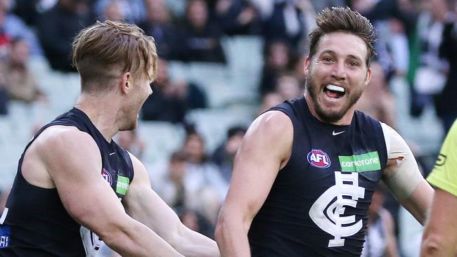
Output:
<instances>
[{"instance_id":1,"label":"unbandaged bare arm of the laughing bearded player","mask_svg":"<svg viewBox=\"0 0 457 257\"><path fill-rule=\"evenodd\" d=\"M222 256L250 256L247 232L290 157L292 140L292 121L283 112L266 112L250 126L236 154L231 186L217 222Z\"/></svg>"}]
</instances>

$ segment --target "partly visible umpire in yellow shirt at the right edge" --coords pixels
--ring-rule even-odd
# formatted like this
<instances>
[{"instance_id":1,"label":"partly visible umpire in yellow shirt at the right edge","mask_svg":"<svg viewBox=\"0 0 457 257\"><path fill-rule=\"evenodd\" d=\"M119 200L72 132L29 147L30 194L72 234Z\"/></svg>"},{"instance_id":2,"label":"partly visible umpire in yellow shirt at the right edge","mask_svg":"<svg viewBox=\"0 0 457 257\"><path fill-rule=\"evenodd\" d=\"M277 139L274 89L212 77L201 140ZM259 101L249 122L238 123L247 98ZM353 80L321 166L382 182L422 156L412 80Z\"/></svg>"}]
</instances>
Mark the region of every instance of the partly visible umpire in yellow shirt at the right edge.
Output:
<instances>
[{"instance_id":1,"label":"partly visible umpire in yellow shirt at the right edge","mask_svg":"<svg viewBox=\"0 0 457 257\"><path fill-rule=\"evenodd\" d=\"M444 140L427 181L435 186L420 256L456 256L457 245L457 121Z\"/></svg>"}]
</instances>

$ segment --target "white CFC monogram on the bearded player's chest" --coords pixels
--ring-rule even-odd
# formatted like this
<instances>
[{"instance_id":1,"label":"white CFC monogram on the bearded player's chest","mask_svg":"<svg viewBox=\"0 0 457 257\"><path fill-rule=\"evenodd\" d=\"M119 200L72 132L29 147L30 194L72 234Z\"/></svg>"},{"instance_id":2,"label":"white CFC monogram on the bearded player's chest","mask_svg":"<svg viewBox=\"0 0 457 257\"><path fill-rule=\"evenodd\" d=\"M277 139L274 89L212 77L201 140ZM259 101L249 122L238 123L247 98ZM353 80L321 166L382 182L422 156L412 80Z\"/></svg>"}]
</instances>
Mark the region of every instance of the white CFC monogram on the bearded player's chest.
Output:
<instances>
[{"instance_id":1,"label":"white CFC monogram on the bearded player's chest","mask_svg":"<svg viewBox=\"0 0 457 257\"><path fill-rule=\"evenodd\" d=\"M323 192L309 210L309 216L321 230L333 235L328 241L328 247L345 246L345 239L359 232L363 226L362 220L356 222L354 215L343 216L345 206L355 207L357 199L363 198L365 189L359 187L359 174L341 173L335 171L335 185ZM350 197L349 199L343 198ZM336 201L332 203L333 199ZM330 204L331 203L331 204ZM352 225L349 225L352 224Z\"/></svg>"}]
</instances>

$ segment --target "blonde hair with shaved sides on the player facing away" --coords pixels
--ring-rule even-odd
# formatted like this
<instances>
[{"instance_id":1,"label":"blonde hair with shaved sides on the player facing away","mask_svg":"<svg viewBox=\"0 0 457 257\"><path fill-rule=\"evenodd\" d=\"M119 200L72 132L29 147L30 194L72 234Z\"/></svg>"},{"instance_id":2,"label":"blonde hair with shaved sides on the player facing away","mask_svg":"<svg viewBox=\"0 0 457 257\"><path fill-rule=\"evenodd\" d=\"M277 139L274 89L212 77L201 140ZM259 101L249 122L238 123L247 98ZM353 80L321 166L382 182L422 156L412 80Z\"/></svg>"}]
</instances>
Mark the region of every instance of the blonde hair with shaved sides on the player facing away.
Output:
<instances>
[{"instance_id":1,"label":"blonde hair with shaved sides on the player facing away","mask_svg":"<svg viewBox=\"0 0 457 257\"><path fill-rule=\"evenodd\" d=\"M82 91L104 90L122 72L131 72L134 79L146 74L151 82L157 77L155 41L133 24L97 21L77 34L72 50Z\"/></svg>"}]
</instances>

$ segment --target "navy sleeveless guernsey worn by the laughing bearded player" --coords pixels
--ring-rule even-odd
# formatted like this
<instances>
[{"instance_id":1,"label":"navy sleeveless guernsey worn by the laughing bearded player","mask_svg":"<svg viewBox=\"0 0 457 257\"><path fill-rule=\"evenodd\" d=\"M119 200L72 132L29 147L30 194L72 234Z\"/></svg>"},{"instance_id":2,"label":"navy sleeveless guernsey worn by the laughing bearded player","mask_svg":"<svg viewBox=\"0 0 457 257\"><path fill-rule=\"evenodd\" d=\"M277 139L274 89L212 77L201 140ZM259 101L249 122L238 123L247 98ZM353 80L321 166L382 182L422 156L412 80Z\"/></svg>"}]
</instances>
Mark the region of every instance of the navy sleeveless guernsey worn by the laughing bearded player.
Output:
<instances>
[{"instance_id":1,"label":"navy sleeveless guernsey worn by the laughing bearded player","mask_svg":"<svg viewBox=\"0 0 457 257\"><path fill-rule=\"evenodd\" d=\"M360 256L368 206L387 164L380 121L318 121L304 97L271 108L290 117L292 154L248 232L256 256Z\"/></svg>"}]
</instances>

